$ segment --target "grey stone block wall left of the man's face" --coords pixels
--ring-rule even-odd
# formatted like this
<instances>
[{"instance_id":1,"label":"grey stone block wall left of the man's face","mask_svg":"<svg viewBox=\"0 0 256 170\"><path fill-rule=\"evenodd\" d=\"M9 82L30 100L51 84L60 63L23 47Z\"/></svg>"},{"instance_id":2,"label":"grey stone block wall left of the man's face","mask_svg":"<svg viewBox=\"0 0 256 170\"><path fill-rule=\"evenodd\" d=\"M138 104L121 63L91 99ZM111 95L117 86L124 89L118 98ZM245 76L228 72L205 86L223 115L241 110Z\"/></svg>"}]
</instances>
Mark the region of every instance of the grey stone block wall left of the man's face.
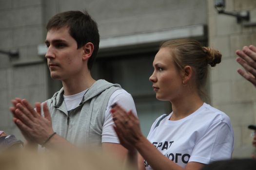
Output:
<instances>
[{"instance_id":1,"label":"grey stone block wall left of the man's face","mask_svg":"<svg viewBox=\"0 0 256 170\"><path fill-rule=\"evenodd\" d=\"M9 112L14 97L46 99L46 67L37 53L43 42L41 0L0 0L0 50L16 50L19 59L0 54L0 129L21 137Z\"/></svg>"}]
</instances>

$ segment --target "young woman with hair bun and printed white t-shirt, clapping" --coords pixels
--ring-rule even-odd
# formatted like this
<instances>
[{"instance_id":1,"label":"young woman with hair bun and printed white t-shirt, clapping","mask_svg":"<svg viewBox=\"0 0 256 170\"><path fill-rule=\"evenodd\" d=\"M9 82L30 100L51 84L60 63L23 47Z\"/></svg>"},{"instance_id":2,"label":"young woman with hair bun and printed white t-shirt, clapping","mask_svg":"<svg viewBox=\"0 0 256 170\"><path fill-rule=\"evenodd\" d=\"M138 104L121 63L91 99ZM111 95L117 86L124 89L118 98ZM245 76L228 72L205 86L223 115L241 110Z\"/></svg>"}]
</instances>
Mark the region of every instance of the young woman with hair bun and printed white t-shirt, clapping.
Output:
<instances>
[{"instance_id":1,"label":"young woman with hair bun and printed white t-shirt, clapping","mask_svg":"<svg viewBox=\"0 0 256 170\"><path fill-rule=\"evenodd\" d=\"M230 159L234 132L229 117L202 101L208 65L220 63L221 54L193 39L162 44L155 56L153 83L156 97L170 101L172 113L152 125L147 138L138 118L118 103L112 116L120 143L139 170L199 170L215 160Z\"/></svg>"}]
</instances>

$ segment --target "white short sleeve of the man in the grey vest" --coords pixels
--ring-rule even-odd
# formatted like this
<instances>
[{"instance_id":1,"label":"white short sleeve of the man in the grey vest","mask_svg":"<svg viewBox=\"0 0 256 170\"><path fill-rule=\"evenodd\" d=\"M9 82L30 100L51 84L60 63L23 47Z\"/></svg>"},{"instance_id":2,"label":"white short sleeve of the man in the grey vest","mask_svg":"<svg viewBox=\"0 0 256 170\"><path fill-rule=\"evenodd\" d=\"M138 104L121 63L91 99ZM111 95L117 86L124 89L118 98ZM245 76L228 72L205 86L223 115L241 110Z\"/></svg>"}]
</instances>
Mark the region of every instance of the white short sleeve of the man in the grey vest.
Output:
<instances>
[{"instance_id":1,"label":"white short sleeve of the man in the grey vest","mask_svg":"<svg viewBox=\"0 0 256 170\"><path fill-rule=\"evenodd\" d=\"M132 110L132 112L137 116L137 111L135 107L134 100L127 91L124 89L116 90L109 98L107 105L107 110L105 112L105 121L102 127L102 139L101 142L110 142L110 143L120 143L116 132L113 129L114 121L110 113L111 105L118 103L126 111Z\"/></svg>"}]
</instances>

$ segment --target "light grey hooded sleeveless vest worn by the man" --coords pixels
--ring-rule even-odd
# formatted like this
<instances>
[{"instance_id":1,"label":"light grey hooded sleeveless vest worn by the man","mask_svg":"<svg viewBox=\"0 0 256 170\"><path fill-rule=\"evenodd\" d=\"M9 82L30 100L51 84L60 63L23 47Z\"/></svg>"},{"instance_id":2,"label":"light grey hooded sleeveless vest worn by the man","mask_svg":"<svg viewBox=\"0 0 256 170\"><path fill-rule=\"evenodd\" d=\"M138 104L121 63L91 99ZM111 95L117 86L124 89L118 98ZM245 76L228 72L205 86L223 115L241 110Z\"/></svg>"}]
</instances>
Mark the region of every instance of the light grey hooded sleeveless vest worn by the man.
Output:
<instances>
[{"instance_id":1,"label":"light grey hooded sleeveless vest worn by the man","mask_svg":"<svg viewBox=\"0 0 256 170\"><path fill-rule=\"evenodd\" d=\"M85 92L79 106L68 112L62 87L47 100L53 130L76 146L101 146L105 111L110 96L117 89L121 89L121 86L98 80Z\"/></svg>"}]
</instances>

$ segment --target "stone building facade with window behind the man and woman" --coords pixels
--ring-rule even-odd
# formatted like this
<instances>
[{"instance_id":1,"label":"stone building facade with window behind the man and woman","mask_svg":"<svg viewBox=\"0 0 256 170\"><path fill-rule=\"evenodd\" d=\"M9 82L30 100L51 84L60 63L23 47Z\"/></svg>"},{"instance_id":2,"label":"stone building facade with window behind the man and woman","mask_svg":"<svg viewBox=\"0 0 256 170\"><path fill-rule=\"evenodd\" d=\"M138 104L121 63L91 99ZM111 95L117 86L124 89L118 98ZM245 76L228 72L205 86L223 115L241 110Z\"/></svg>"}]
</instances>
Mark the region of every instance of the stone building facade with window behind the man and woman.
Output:
<instances>
[{"instance_id":1,"label":"stone building facade with window behind the man and woman","mask_svg":"<svg viewBox=\"0 0 256 170\"><path fill-rule=\"evenodd\" d=\"M0 0L0 50L20 54L0 54L0 129L22 138L8 110L10 100L43 102L59 89L44 59L45 25L56 13L84 9L97 21L100 34L93 75L121 84L134 96L145 135L154 119L171 110L170 103L155 99L148 81L159 44L195 38L221 51L222 62L211 68L207 85L210 103L231 118L233 157L251 154L247 126L256 123L256 89L236 73L235 51L256 45L256 26L217 14L214 0ZM249 10L250 22L256 22L255 0L226 0L226 10Z\"/></svg>"}]
</instances>

